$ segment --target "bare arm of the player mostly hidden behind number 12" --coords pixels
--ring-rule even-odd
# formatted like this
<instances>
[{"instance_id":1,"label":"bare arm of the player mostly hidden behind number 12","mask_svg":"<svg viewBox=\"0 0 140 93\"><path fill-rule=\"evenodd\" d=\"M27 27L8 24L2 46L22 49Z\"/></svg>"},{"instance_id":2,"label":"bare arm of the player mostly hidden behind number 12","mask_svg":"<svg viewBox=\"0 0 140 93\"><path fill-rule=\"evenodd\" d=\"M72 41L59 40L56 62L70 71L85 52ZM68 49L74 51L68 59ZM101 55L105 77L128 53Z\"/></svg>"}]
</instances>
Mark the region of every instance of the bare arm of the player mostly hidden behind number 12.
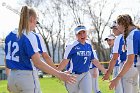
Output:
<instances>
[{"instance_id":1,"label":"bare arm of the player mostly hidden behind number 12","mask_svg":"<svg viewBox=\"0 0 140 93\"><path fill-rule=\"evenodd\" d=\"M46 52L42 53L42 57L49 66L53 67L54 69L57 69L57 67L54 65L51 57Z\"/></svg>"}]
</instances>

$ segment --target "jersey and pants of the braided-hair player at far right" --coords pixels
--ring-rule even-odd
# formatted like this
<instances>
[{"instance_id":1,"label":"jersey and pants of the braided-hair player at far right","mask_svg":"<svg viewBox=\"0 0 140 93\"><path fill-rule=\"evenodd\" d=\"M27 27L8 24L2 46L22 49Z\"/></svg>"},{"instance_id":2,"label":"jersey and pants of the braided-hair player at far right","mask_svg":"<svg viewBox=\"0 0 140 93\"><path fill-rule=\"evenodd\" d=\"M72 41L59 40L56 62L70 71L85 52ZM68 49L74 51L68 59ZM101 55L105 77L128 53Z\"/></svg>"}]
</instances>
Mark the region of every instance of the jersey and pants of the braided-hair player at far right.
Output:
<instances>
[{"instance_id":1,"label":"jersey and pants of the braided-hair player at far right","mask_svg":"<svg viewBox=\"0 0 140 93\"><path fill-rule=\"evenodd\" d=\"M127 36L126 41L127 55L135 54L139 56L140 31L133 29ZM135 62L122 79L125 82L124 86L126 86L124 93L138 93L138 70L135 67Z\"/></svg>"}]
</instances>

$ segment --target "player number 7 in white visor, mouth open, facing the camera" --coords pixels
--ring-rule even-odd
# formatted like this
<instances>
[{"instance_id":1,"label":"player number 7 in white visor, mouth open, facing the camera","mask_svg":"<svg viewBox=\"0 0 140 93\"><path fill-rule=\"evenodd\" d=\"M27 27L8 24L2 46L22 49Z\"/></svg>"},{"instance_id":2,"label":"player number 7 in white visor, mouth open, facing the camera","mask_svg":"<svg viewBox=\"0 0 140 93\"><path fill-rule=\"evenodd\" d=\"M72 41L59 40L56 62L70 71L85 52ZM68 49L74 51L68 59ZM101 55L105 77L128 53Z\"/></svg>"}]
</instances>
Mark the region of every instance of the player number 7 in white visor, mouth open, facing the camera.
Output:
<instances>
[{"instance_id":1,"label":"player number 7 in white visor, mouth open, facing the camera","mask_svg":"<svg viewBox=\"0 0 140 93\"><path fill-rule=\"evenodd\" d=\"M86 41L87 32L85 26L75 28L77 40L67 45L64 59L58 69L63 70L67 65L67 71L77 76L75 84L66 83L68 93L91 93L92 80L89 73L90 62L93 62L101 71L105 71L101 64L94 58L92 46Z\"/></svg>"}]
</instances>

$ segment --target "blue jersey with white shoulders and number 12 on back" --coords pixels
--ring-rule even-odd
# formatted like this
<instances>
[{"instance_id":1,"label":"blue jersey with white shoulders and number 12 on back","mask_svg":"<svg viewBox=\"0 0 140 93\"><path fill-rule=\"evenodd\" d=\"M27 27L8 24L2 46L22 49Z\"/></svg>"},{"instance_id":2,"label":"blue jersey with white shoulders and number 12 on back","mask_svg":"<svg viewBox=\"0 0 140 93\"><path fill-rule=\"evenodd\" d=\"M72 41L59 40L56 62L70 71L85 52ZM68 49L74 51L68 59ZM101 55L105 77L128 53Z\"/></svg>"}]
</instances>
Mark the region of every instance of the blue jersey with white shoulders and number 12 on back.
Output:
<instances>
[{"instance_id":1,"label":"blue jersey with white shoulders and number 12 on back","mask_svg":"<svg viewBox=\"0 0 140 93\"><path fill-rule=\"evenodd\" d=\"M26 34L24 31L19 38L17 30L12 31L5 39L6 66L9 69L34 70L31 57L39 51L37 38L32 32Z\"/></svg>"}]
</instances>

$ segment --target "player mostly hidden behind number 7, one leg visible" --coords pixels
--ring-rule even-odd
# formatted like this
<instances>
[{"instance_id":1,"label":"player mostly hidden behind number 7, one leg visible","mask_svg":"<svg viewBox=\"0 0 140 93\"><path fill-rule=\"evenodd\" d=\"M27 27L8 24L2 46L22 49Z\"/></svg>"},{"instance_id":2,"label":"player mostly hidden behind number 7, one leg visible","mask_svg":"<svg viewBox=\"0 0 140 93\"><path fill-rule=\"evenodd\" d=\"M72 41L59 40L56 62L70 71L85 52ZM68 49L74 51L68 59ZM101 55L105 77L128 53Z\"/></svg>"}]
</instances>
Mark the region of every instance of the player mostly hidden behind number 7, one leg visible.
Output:
<instances>
[{"instance_id":1,"label":"player mostly hidden behind number 7, one leg visible","mask_svg":"<svg viewBox=\"0 0 140 93\"><path fill-rule=\"evenodd\" d=\"M95 50L93 50L93 54L94 54L94 57L98 60ZM92 78L92 90L94 91L94 93L101 93L101 91L99 89L99 85L98 85L99 70L92 63L90 63L89 68L90 68L90 74L91 74L91 78Z\"/></svg>"}]
</instances>

